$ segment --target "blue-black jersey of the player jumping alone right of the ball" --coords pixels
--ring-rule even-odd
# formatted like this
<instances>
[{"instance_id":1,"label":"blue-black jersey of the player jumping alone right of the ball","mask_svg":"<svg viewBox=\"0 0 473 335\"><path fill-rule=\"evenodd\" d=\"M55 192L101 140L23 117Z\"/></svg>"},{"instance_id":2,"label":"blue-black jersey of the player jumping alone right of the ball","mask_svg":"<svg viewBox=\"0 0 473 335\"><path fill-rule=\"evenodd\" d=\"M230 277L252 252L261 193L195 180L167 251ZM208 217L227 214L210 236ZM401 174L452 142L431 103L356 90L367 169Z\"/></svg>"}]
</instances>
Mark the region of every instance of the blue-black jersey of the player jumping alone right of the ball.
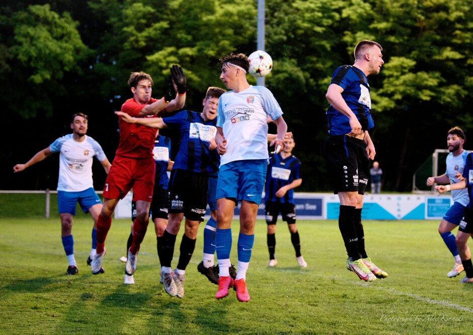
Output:
<instances>
[{"instance_id":1,"label":"blue-black jersey of the player jumping alone right of the ball","mask_svg":"<svg viewBox=\"0 0 473 335\"><path fill-rule=\"evenodd\" d=\"M342 98L355 113L362 130L374 127L371 117L371 98L368 78L359 68L353 65L343 65L332 75L330 84L343 88ZM351 132L349 119L330 105L327 109L327 121L330 135L344 135Z\"/></svg>"}]
</instances>

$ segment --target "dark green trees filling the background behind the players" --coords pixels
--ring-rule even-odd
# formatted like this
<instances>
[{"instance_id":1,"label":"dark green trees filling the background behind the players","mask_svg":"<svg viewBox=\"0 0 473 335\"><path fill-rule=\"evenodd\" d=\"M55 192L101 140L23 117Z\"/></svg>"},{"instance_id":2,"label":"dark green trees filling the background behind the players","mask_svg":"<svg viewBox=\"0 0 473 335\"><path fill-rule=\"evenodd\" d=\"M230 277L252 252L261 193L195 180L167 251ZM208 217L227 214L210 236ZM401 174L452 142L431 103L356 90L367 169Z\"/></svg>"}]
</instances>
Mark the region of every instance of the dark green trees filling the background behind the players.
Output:
<instances>
[{"instance_id":1,"label":"dark green trees filling the background behind the players","mask_svg":"<svg viewBox=\"0 0 473 335\"><path fill-rule=\"evenodd\" d=\"M368 78L383 190L410 191L414 172L446 147L452 126L465 130L471 147L472 17L471 1L463 0L266 0L265 49L274 67L265 84L295 136L303 173L298 191L331 190L323 158L325 94L335 68L353 64L361 39L383 46L385 64ZM70 133L75 112L89 115L88 135L112 161L113 112L132 96L126 83L132 71L152 75L159 99L169 67L179 64L188 78L185 108L201 111L207 87L224 88L218 58L255 51L256 27L257 0L2 1L0 189L56 188L58 155L20 174L12 168ZM162 134L177 143L176 133ZM95 162L95 188L104 182Z\"/></svg>"}]
</instances>

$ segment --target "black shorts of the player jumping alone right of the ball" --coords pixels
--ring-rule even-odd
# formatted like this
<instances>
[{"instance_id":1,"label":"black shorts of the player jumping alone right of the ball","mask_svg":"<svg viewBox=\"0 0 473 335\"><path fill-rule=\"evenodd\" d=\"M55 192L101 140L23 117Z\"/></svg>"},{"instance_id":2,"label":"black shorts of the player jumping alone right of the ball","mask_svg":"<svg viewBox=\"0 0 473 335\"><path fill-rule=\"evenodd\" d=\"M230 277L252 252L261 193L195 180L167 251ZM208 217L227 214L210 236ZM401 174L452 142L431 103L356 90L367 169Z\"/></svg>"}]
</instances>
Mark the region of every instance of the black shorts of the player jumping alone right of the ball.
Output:
<instances>
[{"instance_id":1,"label":"black shorts of the player jumping alone right of the ball","mask_svg":"<svg viewBox=\"0 0 473 335\"><path fill-rule=\"evenodd\" d=\"M327 172L338 192L364 194L369 178L369 158L366 143L347 135L329 136L324 155Z\"/></svg>"}]
</instances>

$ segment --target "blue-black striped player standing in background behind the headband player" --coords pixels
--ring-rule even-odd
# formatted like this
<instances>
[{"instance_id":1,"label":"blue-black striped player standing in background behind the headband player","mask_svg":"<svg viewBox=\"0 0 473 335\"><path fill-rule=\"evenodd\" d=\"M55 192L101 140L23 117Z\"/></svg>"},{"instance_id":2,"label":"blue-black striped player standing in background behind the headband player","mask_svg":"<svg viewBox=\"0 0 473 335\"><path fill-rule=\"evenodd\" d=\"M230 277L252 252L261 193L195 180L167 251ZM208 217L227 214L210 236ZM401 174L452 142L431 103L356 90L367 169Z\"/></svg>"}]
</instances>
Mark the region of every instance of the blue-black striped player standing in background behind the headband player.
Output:
<instances>
[{"instance_id":1,"label":"blue-black striped player standing in background behind the headband player","mask_svg":"<svg viewBox=\"0 0 473 335\"><path fill-rule=\"evenodd\" d=\"M268 224L267 243L269 250L268 266L276 266L274 256L276 248L276 221L281 213L283 221L291 233L296 260L305 268L307 263L300 253L300 238L296 227L296 211L294 206L294 189L302 184L300 161L292 154L295 146L294 137L285 139L283 151L269 155L268 172L265 186L265 217Z\"/></svg>"}]
</instances>

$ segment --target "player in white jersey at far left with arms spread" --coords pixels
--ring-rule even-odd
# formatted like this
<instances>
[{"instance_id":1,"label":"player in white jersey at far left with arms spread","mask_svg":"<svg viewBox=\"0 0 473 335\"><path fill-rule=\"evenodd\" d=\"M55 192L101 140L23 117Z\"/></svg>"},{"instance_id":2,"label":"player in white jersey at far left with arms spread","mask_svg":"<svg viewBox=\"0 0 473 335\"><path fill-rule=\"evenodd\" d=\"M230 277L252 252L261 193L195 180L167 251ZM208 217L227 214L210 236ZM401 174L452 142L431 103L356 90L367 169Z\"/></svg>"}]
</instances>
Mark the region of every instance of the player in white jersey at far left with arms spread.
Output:
<instances>
[{"instance_id":1,"label":"player in white jersey at far left with arms spread","mask_svg":"<svg viewBox=\"0 0 473 335\"><path fill-rule=\"evenodd\" d=\"M61 218L62 245L69 263L67 274L75 275L78 272L74 259L74 239L72 237L72 216L75 215L75 206L78 202L82 210L85 213L89 212L94 220L92 249L87 260L87 264L90 265L96 253L97 218L102 210L102 202L94 191L92 162L94 156L96 156L107 174L111 164L100 144L86 135L88 128L87 115L83 113L72 115L70 128L72 134L59 137L47 148L37 152L25 164L16 164L13 170L15 173L23 171L47 156L59 152L57 205Z\"/></svg>"}]
</instances>

